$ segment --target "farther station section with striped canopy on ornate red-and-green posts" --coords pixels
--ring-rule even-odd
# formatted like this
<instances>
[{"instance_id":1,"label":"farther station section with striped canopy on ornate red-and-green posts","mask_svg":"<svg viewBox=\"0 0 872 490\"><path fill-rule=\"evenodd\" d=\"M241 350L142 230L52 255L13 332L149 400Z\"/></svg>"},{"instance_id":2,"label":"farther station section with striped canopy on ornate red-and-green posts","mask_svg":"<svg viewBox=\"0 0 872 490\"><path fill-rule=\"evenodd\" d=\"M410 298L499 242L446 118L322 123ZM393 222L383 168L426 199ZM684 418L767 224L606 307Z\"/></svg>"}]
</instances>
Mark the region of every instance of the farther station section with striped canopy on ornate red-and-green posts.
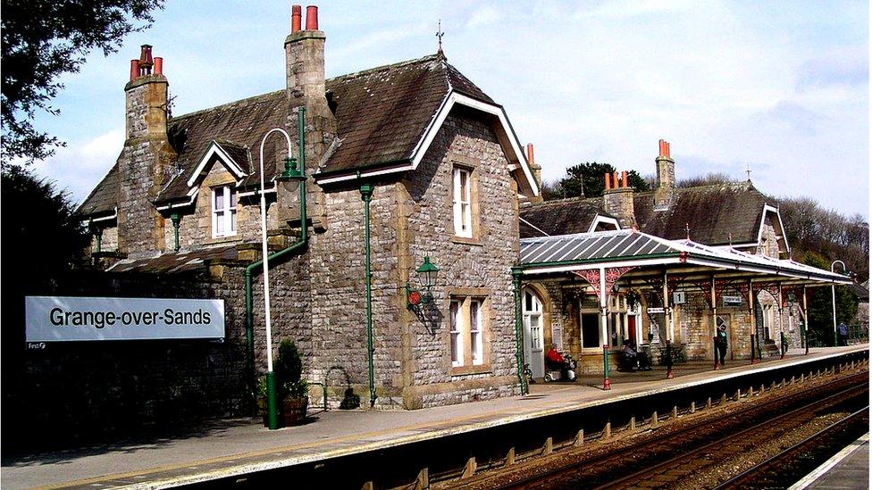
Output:
<instances>
[{"instance_id":1,"label":"farther station section with striped canopy on ornate red-and-green posts","mask_svg":"<svg viewBox=\"0 0 872 490\"><path fill-rule=\"evenodd\" d=\"M516 273L534 377L552 343L587 372L625 341L655 359L669 341L686 359L713 360L721 326L728 361L780 355L804 345L807 287L851 282L791 260L777 204L750 180L677 188L663 140L655 164L652 191L616 172L601 197L522 207Z\"/></svg>"}]
</instances>

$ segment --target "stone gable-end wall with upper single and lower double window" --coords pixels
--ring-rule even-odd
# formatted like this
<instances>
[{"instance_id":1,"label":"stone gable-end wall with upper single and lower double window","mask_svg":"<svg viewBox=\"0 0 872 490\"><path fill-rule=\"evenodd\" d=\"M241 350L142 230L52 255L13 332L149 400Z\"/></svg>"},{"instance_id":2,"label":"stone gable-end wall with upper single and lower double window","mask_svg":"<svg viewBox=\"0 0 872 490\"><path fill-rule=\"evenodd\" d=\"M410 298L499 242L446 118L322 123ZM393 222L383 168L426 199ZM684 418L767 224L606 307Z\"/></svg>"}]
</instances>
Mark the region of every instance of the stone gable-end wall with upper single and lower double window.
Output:
<instances>
[{"instance_id":1,"label":"stone gable-end wall with upper single and lower double window","mask_svg":"<svg viewBox=\"0 0 872 490\"><path fill-rule=\"evenodd\" d=\"M455 166L472 170L472 239L454 237ZM490 122L472 112L452 111L406 186L408 257L402 274L416 281L415 267L430 256L440 266L440 285L446 285L434 289L435 304L443 311L437 328L428 330L418 320L410 324L411 384L415 387L407 403L416 405L420 399L428 406L516 393L510 271L519 250L516 184ZM447 290L447 286L454 289ZM485 328L490 351L485 359L489 363L465 370L451 368L450 294L487 295L490 314Z\"/></svg>"}]
</instances>

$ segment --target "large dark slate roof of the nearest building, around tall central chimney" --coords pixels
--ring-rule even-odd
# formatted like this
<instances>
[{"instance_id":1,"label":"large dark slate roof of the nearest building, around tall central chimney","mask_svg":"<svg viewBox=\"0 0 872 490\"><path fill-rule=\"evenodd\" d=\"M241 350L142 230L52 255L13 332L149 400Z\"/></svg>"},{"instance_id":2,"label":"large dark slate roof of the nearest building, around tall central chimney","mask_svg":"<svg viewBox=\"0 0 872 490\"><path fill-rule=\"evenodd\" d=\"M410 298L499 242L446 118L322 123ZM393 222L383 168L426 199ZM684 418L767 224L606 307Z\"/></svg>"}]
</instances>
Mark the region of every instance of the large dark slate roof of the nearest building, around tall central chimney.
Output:
<instances>
[{"instance_id":1,"label":"large dark slate roof of the nearest building, around tall central chimney","mask_svg":"<svg viewBox=\"0 0 872 490\"><path fill-rule=\"evenodd\" d=\"M324 174L409 160L452 89L498 105L441 54L328 79L326 88L337 104L341 143L323 165ZM249 162L243 154L257 159L266 131L286 126L285 97L282 89L169 120L168 135L179 155L180 173L164 187L155 203L187 200L190 175L214 140L222 142L228 153L234 152L234 159L239 155L237 162L253 167L243 186L256 183L259 162ZM271 138L264 154L272 154L271 145L277 141ZM264 172L276 175L272 159L264 162ZM78 212L87 216L113 210L118 185L116 163Z\"/></svg>"}]
</instances>

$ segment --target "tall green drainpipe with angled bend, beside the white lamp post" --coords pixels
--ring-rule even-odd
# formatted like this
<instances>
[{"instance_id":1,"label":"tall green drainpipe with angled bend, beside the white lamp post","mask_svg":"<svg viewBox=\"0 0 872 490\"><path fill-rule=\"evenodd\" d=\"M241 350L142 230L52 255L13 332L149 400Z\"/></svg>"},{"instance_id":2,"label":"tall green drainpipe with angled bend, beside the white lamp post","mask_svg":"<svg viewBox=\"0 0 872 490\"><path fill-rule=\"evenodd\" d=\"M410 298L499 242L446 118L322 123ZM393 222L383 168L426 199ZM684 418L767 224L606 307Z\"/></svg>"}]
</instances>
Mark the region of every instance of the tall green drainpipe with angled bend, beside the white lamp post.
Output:
<instances>
[{"instance_id":1,"label":"tall green drainpipe with angled bend, beside the white lamp post","mask_svg":"<svg viewBox=\"0 0 872 490\"><path fill-rule=\"evenodd\" d=\"M272 253L267 257L267 260L272 265L274 260L280 259L290 253L297 253L299 250L306 248L309 243L308 223L306 222L306 141L303 137L304 114L306 110L303 107L299 108L297 118L297 147L298 147L298 168L302 179L299 181L299 201L300 201L300 237L299 239L276 253ZM245 270L245 288L246 288L246 346L247 346L247 368L249 373L249 390L251 396L255 396L255 314L253 311L251 278L254 271L264 266L264 260L261 259L253 262L246 267Z\"/></svg>"}]
</instances>

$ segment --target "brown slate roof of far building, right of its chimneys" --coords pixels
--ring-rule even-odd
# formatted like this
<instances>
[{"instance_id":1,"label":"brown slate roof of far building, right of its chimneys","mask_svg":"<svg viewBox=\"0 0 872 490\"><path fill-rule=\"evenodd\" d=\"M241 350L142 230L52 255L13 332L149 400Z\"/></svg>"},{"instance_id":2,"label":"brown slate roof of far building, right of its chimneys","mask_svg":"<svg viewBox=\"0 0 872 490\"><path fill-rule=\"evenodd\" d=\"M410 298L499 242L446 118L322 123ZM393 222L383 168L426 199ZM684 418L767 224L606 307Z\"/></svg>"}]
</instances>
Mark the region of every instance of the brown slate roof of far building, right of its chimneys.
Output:
<instances>
[{"instance_id":1,"label":"brown slate roof of far building, right of its chimneys","mask_svg":"<svg viewBox=\"0 0 872 490\"><path fill-rule=\"evenodd\" d=\"M670 240L686 238L707 245L757 243L766 196L750 181L675 189L666 211L654 210L654 193L633 195L639 229ZM732 235L732 239L731 239Z\"/></svg>"}]
</instances>

